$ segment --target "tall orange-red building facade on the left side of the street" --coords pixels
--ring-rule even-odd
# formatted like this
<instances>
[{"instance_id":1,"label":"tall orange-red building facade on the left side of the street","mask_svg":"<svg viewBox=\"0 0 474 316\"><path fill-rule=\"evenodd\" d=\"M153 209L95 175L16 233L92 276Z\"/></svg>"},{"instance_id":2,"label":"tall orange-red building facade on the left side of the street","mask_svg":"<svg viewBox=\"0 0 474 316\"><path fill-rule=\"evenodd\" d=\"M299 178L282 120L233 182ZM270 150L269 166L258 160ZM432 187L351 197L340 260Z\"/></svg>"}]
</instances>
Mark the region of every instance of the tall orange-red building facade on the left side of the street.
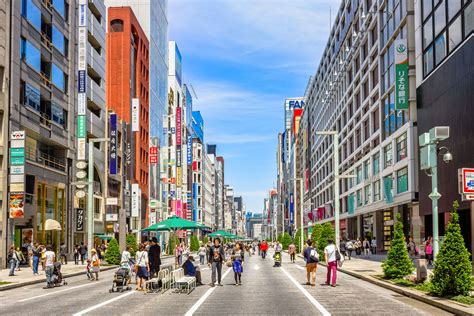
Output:
<instances>
[{"instance_id":1,"label":"tall orange-red building facade on the left side of the street","mask_svg":"<svg viewBox=\"0 0 474 316\"><path fill-rule=\"evenodd\" d=\"M139 100L133 178L142 191L141 226L148 226L149 43L130 7L110 7L107 26L107 106L127 123L132 99Z\"/></svg>"}]
</instances>

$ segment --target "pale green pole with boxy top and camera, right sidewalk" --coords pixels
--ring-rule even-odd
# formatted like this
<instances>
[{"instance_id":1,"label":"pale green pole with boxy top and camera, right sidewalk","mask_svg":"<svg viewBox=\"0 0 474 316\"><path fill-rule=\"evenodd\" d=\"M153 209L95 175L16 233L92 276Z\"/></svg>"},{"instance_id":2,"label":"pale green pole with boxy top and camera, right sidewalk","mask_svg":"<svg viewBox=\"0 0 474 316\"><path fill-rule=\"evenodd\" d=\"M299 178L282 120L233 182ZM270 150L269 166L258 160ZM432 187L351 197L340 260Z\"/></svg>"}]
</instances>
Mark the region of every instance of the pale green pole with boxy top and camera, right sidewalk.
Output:
<instances>
[{"instance_id":1,"label":"pale green pole with boxy top and camera, right sidewalk","mask_svg":"<svg viewBox=\"0 0 474 316\"><path fill-rule=\"evenodd\" d=\"M443 161L450 163L453 156L446 147L437 148L438 143L449 138L449 126L436 126L429 132L420 135L420 169L425 170L431 177L431 193L429 195L433 208L433 259L436 259L439 251L439 232L438 232L438 200L441 194L438 192L438 155L442 150L446 152L443 155Z\"/></svg>"}]
</instances>

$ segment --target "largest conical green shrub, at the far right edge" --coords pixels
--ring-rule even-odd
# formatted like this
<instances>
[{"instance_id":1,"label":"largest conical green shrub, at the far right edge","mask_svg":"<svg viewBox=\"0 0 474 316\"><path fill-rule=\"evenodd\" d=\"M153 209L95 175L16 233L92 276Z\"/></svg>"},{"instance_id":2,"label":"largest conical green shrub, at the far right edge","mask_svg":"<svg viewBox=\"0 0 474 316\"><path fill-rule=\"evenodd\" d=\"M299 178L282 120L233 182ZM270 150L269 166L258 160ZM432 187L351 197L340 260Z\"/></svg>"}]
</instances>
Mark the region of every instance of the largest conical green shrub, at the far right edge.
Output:
<instances>
[{"instance_id":1,"label":"largest conical green shrub, at the far right edge","mask_svg":"<svg viewBox=\"0 0 474 316\"><path fill-rule=\"evenodd\" d=\"M431 291L438 296L468 295L472 286L471 255L461 234L458 207L458 201L454 201L445 239L435 260Z\"/></svg>"}]
</instances>

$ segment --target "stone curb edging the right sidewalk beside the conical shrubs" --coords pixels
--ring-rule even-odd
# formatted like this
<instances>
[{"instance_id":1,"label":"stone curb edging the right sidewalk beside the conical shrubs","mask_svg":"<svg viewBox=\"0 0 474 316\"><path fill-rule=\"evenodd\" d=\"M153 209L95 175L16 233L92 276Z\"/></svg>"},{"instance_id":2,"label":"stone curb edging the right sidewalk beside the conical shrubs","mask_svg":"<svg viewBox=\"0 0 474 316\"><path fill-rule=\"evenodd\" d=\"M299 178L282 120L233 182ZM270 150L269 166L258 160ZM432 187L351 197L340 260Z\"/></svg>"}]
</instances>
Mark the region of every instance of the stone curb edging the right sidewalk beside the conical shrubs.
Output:
<instances>
[{"instance_id":1,"label":"stone curb edging the right sidewalk beside the conical shrubs","mask_svg":"<svg viewBox=\"0 0 474 316\"><path fill-rule=\"evenodd\" d=\"M319 263L319 264L321 266L326 266L325 264L322 264L322 263ZM342 273L348 274L350 276L356 277L358 279L364 280L366 282L372 283L374 285L386 288L386 289L391 290L393 292L396 292L398 294L402 294L404 296L407 296L407 297L410 297L412 299L421 301L421 302L426 303L428 305L435 306L439 309L445 310L445 311L453 313L455 315L473 315L473 312L474 312L474 308L464 306L464 305L460 305L460 304L459 304L459 306L456 306L456 305L458 305L458 303L451 302L448 299L432 298L432 297L430 297L426 294L418 293L418 291L404 289L404 288L401 288L399 286L390 284L388 282L380 281L380 280L377 280L373 277L361 275L361 274L358 274L358 273L355 273L355 272L352 272L352 271L349 271L349 270L346 270L346 269L338 268L337 270L342 272Z\"/></svg>"}]
</instances>

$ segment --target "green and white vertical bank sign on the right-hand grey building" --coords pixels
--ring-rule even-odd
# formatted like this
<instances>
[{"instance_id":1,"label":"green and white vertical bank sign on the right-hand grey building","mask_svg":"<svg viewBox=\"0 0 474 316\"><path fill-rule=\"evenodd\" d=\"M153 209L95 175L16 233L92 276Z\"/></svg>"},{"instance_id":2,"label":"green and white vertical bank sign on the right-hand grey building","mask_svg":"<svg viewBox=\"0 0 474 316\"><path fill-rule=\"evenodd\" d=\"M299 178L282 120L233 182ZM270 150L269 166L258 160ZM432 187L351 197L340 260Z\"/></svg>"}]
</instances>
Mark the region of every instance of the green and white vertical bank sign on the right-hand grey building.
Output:
<instances>
[{"instance_id":1,"label":"green and white vertical bank sign on the right-hand grey building","mask_svg":"<svg viewBox=\"0 0 474 316\"><path fill-rule=\"evenodd\" d=\"M395 40L395 109L407 110L408 103L408 48L406 39Z\"/></svg>"}]
</instances>

